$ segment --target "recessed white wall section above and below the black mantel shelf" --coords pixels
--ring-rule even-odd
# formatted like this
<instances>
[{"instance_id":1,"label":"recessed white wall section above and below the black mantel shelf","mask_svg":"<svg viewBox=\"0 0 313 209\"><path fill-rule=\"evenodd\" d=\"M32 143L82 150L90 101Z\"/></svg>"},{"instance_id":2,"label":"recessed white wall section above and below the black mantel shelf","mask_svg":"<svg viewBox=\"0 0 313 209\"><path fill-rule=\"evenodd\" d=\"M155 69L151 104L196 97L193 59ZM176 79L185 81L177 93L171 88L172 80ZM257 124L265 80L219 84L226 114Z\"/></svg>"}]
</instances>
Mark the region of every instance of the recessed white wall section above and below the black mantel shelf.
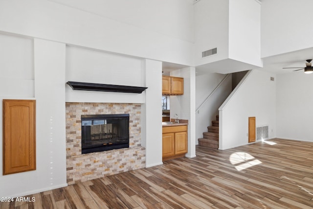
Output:
<instances>
[{"instance_id":1,"label":"recessed white wall section above and below the black mantel shelf","mask_svg":"<svg viewBox=\"0 0 313 209\"><path fill-rule=\"evenodd\" d=\"M143 59L67 46L67 81L144 86ZM143 93L74 91L66 85L67 102L144 103Z\"/></svg>"}]
</instances>

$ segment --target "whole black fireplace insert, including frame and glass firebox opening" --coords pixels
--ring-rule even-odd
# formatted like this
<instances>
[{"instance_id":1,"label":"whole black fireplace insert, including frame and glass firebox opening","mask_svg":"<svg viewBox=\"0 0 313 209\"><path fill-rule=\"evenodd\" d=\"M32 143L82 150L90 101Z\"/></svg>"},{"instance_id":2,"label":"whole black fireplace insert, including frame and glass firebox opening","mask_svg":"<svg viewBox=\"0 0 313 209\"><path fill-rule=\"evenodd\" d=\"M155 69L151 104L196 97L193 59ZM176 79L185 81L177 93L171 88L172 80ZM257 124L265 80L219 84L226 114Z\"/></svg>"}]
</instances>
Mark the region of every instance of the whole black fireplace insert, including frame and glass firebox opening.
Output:
<instances>
[{"instance_id":1,"label":"whole black fireplace insert, including frame and glass firebox opening","mask_svg":"<svg viewBox=\"0 0 313 209\"><path fill-rule=\"evenodd\" d=\"M129 114L82 115L82 154L129 147Z\"/></svg>"}]
</instances>

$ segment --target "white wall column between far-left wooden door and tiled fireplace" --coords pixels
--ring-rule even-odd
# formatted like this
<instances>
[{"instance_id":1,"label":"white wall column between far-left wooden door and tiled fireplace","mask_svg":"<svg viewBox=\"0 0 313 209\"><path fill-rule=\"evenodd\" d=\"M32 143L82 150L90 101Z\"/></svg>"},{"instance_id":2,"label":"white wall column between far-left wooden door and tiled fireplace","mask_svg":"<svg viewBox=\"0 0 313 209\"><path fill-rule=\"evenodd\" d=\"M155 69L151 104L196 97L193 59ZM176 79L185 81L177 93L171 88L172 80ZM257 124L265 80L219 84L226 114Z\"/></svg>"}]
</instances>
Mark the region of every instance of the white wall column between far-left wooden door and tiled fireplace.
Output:
<instances>
[{"instance_id":1,"label":"white wall column between far-left wooden door and tiled fireplace","mask_svg":"<svg viewBox=\"0 0 313 209\"><path fill-rule=\"evenodd\" d=\"M39 190L67 186L66 45L34 39L36 151Z\"/></svg>"}]
</instances>

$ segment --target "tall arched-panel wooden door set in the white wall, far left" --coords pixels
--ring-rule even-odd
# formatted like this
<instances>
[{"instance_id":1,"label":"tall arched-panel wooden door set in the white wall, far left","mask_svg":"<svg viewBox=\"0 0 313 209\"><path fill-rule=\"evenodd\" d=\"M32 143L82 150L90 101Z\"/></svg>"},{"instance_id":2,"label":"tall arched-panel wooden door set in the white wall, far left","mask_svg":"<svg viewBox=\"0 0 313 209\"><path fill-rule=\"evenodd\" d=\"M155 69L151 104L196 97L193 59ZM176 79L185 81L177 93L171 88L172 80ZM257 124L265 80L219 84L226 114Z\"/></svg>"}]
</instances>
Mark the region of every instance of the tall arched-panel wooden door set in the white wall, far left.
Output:
<instances>
[{"instance_id":1,"label":"tall arched-panel wooden door set in the white wall, far left","mask_svg":"<svg viewBox=\"0 0 313 209\"><path fill-rule=\"evenodd\" d=\"M3 175L36 170L36 101L3 99Z\"/></svg>"}]
</instances>

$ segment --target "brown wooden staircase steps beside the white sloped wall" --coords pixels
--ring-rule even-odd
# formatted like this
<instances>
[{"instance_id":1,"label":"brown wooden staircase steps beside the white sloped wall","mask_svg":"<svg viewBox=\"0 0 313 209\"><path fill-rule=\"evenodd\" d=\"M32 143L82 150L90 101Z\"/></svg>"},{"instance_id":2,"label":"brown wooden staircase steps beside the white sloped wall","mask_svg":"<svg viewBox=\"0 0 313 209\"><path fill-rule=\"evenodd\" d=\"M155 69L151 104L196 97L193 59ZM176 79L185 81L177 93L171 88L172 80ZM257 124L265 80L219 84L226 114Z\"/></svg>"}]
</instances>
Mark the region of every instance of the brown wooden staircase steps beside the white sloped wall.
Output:
<instances>
[{"instance_id":1,"label":"brown wooden staircase steps beside the white sloped wall","mask_svg":"<svg viewBox=\"0 0 313 209\"><path fill-rule=\"evenodd\" d=\"M199 146L219 149L219 116L212 121L212 126L207 127L207 131L203 133L203 138L198 139Z\"/></svg>"}]
</instances>

